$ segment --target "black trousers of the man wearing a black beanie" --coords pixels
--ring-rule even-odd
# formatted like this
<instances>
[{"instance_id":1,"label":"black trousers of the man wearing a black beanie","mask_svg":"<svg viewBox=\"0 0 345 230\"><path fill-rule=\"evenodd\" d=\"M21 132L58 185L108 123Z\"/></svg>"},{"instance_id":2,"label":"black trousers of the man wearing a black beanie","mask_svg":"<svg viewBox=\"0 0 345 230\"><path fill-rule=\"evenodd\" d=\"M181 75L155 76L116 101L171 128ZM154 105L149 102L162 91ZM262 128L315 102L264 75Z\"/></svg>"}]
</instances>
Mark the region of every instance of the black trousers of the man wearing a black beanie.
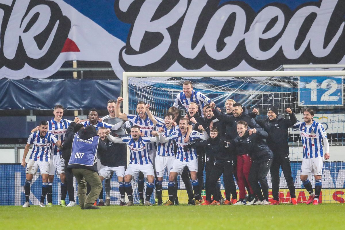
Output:
<instances>
[{"instance_id":1,"label":"black trousers of the man wearing a black beanie","mask_svg":"<svg viewBox=\"0 0 345 230\"><path fill-rule=\"evenodd\" d=\"M273 163L270 168L271 176L272 176L272 195L273 200L279 201L279 182L280 182L280 176L279 176L279 169L282 167L282 171L284 173L284 177L286 180L287 187L290 191L290 197L296 198L295 194L295 183L292 179L292 173L291 173L291 166L290 166L290 159L289 155L286 154L276 154L273 158Z\"/></svg>"}]
</instances>

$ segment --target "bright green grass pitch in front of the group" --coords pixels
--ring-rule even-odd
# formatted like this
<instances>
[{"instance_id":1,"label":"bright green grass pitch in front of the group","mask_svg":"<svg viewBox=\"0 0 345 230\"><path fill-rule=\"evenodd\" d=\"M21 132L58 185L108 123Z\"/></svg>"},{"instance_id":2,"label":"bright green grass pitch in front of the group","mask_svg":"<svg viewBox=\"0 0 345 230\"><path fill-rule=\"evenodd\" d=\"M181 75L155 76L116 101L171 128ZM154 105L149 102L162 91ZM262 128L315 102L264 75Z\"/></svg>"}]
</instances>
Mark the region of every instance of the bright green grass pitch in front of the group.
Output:
<instances>
[{"instance_id":1,"label":"bright green grass pitch in front of the group","mask_svg":"<svg viewBox=\"0 0 345 230\"><path fill-rule=\"evenodd\" d=\"M318 206L0 207L0 229L344 229L344 204Z\"/></svg>"}]
</instances>

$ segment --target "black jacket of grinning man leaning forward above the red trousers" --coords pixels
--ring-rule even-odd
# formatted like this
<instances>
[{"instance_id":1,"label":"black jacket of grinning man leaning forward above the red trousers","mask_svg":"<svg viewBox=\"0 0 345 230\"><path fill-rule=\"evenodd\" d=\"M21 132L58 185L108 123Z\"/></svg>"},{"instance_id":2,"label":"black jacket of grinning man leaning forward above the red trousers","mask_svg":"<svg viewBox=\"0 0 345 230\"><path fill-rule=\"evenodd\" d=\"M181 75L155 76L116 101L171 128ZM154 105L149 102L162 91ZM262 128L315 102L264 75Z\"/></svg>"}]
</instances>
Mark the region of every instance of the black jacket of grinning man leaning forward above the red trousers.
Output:
<instances>
[{"instance_id":1,"label":"black jacket of grinning man leaning forward above the red trousers","mask_svg":"<svg viewBox=\"0 0 345 230\"><path fill-rule=\"evenodd\" d=\"M270 150L264 141L268 137L268 133L263 130L256 130L249 136L248 131L236 139L230 140L230 143L236 146L237 149L246 149L253 161L266 160L273 157L273 152Z\"/></svg>"}]
</instances>

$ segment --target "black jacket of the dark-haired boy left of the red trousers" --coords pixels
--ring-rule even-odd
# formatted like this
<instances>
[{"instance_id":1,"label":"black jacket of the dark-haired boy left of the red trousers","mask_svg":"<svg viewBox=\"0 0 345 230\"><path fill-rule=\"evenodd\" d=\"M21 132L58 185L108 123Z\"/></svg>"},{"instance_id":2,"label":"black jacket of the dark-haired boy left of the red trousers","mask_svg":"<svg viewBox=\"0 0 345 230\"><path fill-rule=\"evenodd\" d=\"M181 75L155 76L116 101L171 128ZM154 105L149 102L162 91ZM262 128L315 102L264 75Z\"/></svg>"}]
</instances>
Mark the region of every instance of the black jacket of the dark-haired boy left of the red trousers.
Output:
<instances>
[{"instance_id":1,"label":"black jacket of the dark-haired boy left of the red trousers","mask_svg":"<svg viewBox=\"0 0 345 230\"><path fill-rule=\"evenodd\" d=\"M217 162L224 163L234 159L233 152L230 148L225 148L224 143L226 144L222 138L217 136L215 139L208 138L207 141L195 141L192 145L205 147L207 157L214 157Z\"/></svg>"}]
</instances>

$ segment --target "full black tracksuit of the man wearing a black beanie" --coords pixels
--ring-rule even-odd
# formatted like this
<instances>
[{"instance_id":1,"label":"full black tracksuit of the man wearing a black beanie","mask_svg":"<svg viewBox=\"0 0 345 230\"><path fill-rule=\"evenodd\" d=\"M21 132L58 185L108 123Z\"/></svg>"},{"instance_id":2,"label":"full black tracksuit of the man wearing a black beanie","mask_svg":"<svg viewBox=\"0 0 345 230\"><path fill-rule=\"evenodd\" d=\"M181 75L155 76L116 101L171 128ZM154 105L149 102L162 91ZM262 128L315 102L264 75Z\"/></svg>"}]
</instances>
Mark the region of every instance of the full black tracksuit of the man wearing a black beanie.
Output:
<instances>
[{"instance_id":1,"label":"full black tracksuit of the man wearing a black beanie","mask_svg":"<svg viewBox=\"0 0 345 230\"><path fill-rule=\"evenodd\" d=\"M288 129L296 122L294 113L289 114L290 119L277 117L269 120L258 120L258 124L264 128L268 133L266 138L268 147L272 150L274 158L270 168L272 176L272 195L273 199L279 201L279 168L282 167L287 187L290 191L290 197L295 198L295 183L292 178L290 159L289 159L289 145L288 145Z\"/></svg>"}]
</instances>

